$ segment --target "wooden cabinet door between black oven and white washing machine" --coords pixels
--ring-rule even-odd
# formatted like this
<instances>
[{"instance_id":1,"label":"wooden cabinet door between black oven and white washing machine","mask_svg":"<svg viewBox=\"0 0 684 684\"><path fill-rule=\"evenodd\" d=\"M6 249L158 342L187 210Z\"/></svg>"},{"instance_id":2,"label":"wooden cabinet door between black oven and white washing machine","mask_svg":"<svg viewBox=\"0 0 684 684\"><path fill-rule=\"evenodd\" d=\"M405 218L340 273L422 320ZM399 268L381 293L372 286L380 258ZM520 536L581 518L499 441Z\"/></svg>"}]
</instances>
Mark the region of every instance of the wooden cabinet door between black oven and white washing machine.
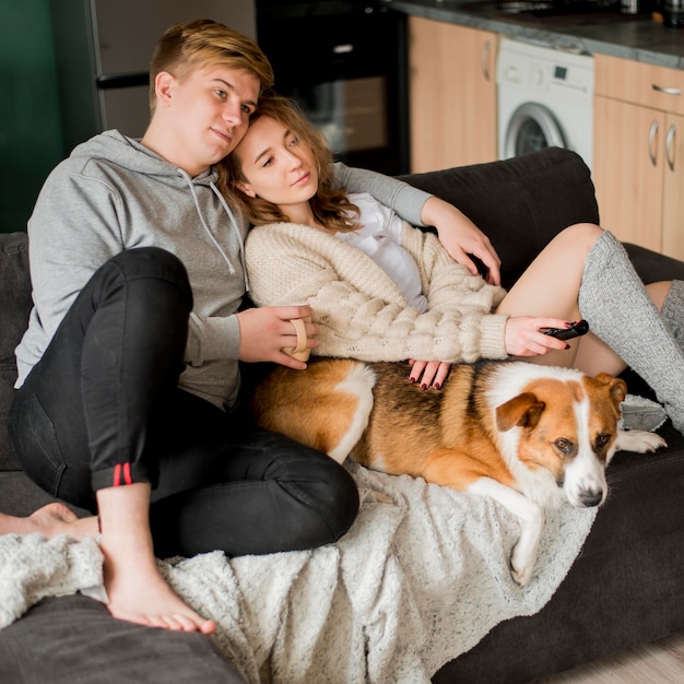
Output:
<instances>
[{"instance_id":1,"label":"wooden cabinet door between black oven and white washing machine","mask_svg":"<svg viewBox=\"0 0 684 684\"><path fill-rule=\"evenodd\" d=\"M409 17L411 170L496 158L496 34Z\"/></svg>"}]
</instances>

